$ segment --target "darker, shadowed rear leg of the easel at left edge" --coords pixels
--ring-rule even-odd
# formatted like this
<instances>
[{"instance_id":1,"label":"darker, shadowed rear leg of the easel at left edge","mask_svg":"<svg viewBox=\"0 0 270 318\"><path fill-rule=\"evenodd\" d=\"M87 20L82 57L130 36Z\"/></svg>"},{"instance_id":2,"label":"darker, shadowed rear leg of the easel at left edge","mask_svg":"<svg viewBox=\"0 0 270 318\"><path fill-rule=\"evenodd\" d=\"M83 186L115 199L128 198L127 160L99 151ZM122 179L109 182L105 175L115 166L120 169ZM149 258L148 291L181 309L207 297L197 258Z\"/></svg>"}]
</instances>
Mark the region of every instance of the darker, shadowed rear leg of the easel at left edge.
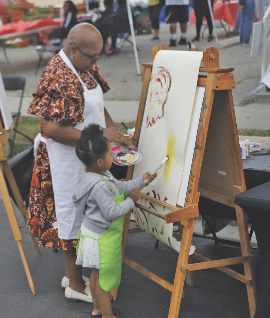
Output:
<instances>
[{"instance_id":1,"label":"darker, shadowed rear leg of the easel at left edge","mask_svg":"<svg viewBox=\"0 0 270 318\"><path fill-rule=\"evenodd\" d=\"M15 197L15 200L16 200L16 203L17 203L17 206L22 214L22 217L24 219L24 222L25 224L27 225L27 210L26 210L26 207L25 207L25 204L24 202L22 201L22 197L21 197L21 194L19 192L19 189L17 187L17 184L16 184L16 181L14 179L14 176L13 176L13 173L10 169L10 165L7 161L2 161L2 166L3 166L3 170L4 170L4 173L7 177L7 180L8 180L8 183L10 185L10 189ZM33 243L35 245L35 249L36 251L38 252L39 255L41 255L41 252L40 252L40 249L39 249L39 246L37 244L37 241L35 239L35 237L33 237L31 235L31 238L33 240Z\"/></svg>"}]
</instances>

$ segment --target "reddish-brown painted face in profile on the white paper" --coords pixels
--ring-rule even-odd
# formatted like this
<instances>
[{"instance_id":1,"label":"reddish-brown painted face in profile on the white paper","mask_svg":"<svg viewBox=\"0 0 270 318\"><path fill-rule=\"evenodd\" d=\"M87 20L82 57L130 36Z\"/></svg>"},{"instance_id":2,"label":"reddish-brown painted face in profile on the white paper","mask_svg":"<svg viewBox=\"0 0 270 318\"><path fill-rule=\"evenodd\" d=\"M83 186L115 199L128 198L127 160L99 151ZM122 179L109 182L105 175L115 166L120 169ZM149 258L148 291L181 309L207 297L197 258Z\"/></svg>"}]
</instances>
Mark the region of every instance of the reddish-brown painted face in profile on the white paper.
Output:
<instances>
[{"instance_id":1,"label":"reddish-brown painted face in profile on the white paper","mask_svg":"<svg viewBox=\"0 0 270 318\"><path fill-rule=\"evenodd\" d=\"M152 127L158 119L164 117L164 105L168 98L171 77L164 67L152 71L149 107L147 109L146 128Z\"/></svg>"}]
</instances>

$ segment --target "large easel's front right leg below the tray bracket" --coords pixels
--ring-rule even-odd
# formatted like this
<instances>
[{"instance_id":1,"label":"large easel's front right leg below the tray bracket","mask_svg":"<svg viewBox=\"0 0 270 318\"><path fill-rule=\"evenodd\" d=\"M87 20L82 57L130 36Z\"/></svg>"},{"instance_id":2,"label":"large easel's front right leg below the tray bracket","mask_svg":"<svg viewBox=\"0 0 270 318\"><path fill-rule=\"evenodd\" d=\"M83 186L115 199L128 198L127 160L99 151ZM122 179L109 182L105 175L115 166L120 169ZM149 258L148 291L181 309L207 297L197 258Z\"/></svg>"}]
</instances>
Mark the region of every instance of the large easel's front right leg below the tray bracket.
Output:
<instances>
[{"instance_id":1,"label":"large easel's front right leg below the tray bracket","mask_svg":"<svg viewBox=\"0 0 270 318\"><path fill-rule=\"evenodd\" d=\"M174 278L168 318L177 318L179 314L184 281L186 276L186 272L181 271L181 266L188 264L190 245L191 245L195 220L196 218L192 218L192 219L184 220L181 222L184 228L183 228L183 234L181 239L179 256L177 260L177 267L176 267L176 273Z\"/></svg>"}]
</instances>

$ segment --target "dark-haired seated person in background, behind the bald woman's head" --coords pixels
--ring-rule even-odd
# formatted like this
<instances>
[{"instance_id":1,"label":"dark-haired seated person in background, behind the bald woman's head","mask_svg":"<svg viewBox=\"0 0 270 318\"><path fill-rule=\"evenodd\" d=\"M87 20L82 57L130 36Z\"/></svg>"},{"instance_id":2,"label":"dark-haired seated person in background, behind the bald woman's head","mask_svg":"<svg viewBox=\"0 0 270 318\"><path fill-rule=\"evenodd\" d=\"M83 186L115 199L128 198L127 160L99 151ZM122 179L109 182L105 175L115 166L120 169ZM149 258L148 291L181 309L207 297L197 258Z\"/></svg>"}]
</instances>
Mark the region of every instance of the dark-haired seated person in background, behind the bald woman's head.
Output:
<instances>
[{"instance_id":1,"label":"dark-haired seated person in background, behind the bald woman's head","mask_svg":"<svg viewBox=\"0 0 270 318\"><path fill-rule=\"evenodd\" d=\"M76 15L78 13L77 7L75 4L67 0L64 2L64 22L59 29L52 30L48 38L50 39L51 45L63 45L63 40L67 38L69 30L78 23Z\"/></svg>"}]
</instances>

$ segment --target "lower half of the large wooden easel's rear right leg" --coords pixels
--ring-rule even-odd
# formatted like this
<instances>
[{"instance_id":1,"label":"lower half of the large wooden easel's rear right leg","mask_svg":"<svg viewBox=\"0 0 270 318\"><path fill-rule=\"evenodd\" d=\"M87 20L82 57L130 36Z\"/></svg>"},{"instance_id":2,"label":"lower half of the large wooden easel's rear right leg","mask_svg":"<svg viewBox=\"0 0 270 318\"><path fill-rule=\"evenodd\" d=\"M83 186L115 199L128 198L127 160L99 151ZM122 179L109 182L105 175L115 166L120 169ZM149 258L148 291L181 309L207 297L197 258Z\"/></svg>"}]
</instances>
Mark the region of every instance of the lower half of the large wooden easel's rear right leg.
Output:
<instances>
[{"instance_id":1,"label":"lower half of the large wooden easel's rear right leg","mask_svg":"<svg viewBox=\"0 0 270 318\"><path fill-rule=\"evenodd\" d=\"M233 188L234 188L235 195L241 192L240 191L241 188L237 186L234 186ZM236 218L237 218L242 256L252 255L250 242L249 242L248 227L247 227L247 216L238 205L235 205L235 210L236 210ZM250 317L253 318L255 315L256 303L257 303L257 290L256 290L254 266L252 263L248 263L248 262L243 263L243 266L244 266L245 276L252 281L252 284L250 285L246 284L246 286L247 286L247 298L248 298L248 304L249 304Z\"/></svg>"}]
</instances>

